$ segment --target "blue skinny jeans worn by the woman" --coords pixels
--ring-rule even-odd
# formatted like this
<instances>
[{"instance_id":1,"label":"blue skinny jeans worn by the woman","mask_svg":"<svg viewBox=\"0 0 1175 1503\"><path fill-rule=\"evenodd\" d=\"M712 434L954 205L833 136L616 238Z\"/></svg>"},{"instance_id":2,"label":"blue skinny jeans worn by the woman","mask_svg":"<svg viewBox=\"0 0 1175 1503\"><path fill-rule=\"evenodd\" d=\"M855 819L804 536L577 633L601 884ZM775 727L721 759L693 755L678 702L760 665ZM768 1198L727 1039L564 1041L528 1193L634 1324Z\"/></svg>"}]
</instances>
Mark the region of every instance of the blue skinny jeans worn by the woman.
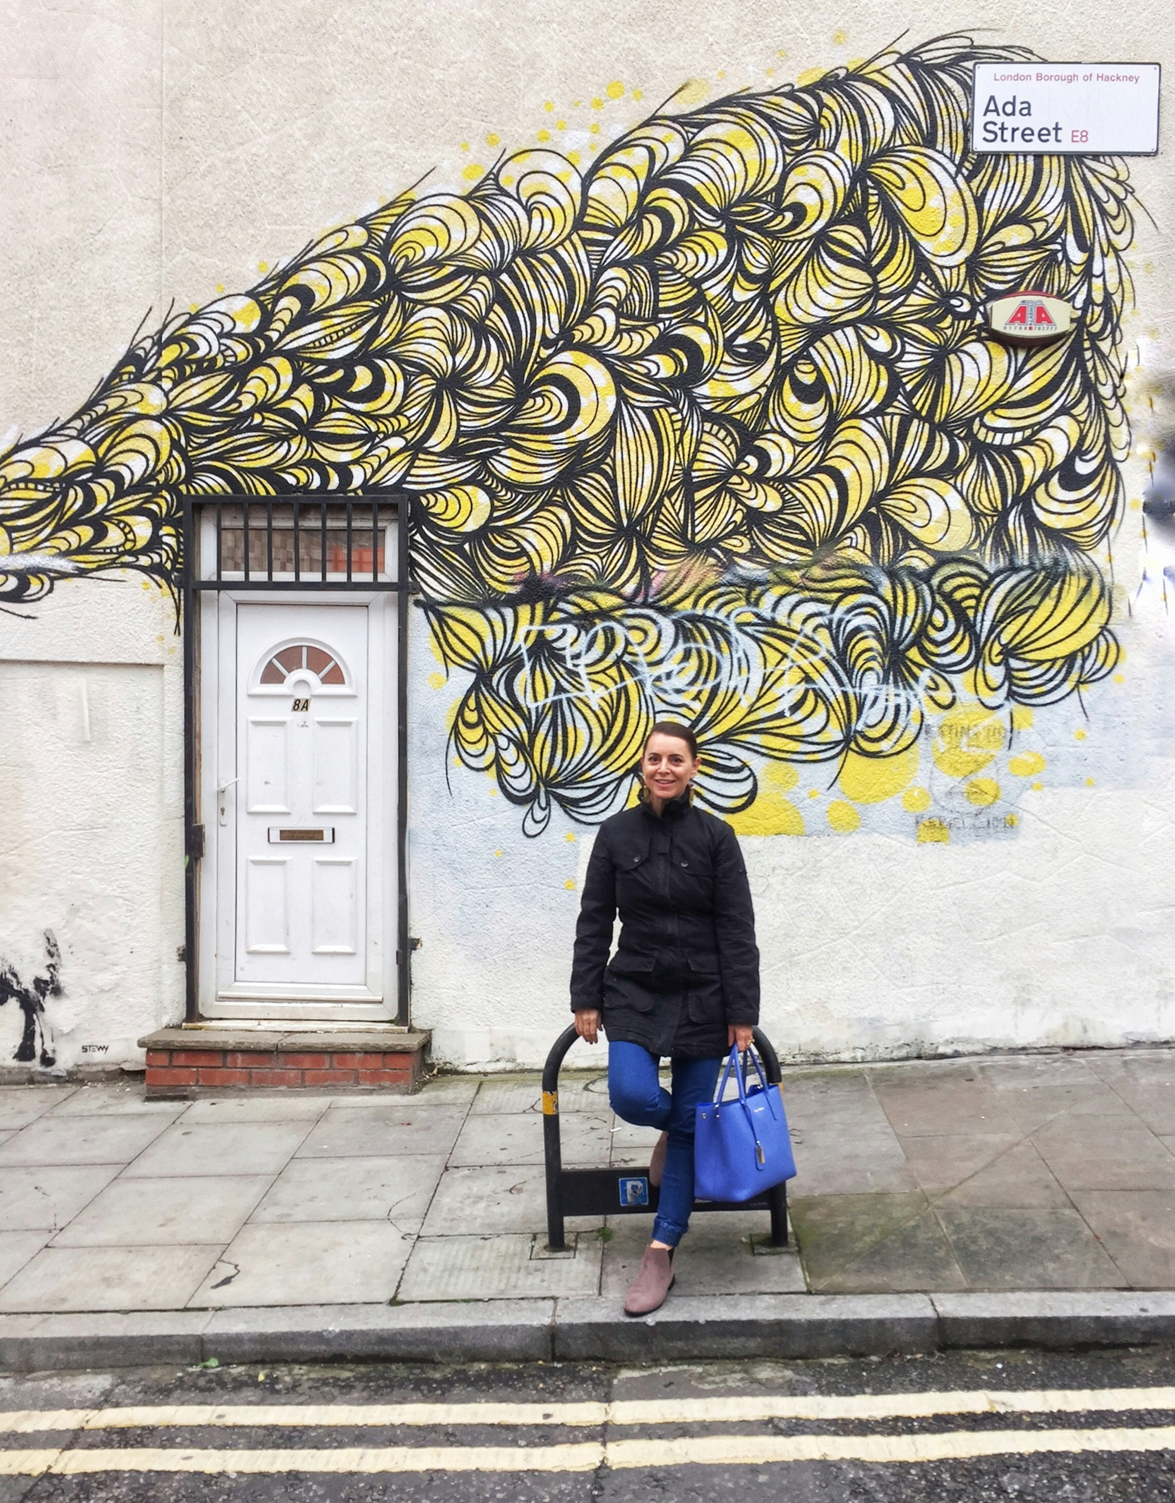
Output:
<instances>
[{"instance_id":1,"label":"blue skinny jeans worn by the woman","mask_svg":"<svg viewBox=\"0 0 1175 1503\"><path fill-rule=\"evenodd\" d=\"M694 1108L712 1099L723 1061L670 1060L672 1096L657 1078L660 1063L643 1045L609 1043L612 1109L637 1127L669 1129L652 1240L676 1247L694 1207Z\"/></svg>"}]
</instances>

